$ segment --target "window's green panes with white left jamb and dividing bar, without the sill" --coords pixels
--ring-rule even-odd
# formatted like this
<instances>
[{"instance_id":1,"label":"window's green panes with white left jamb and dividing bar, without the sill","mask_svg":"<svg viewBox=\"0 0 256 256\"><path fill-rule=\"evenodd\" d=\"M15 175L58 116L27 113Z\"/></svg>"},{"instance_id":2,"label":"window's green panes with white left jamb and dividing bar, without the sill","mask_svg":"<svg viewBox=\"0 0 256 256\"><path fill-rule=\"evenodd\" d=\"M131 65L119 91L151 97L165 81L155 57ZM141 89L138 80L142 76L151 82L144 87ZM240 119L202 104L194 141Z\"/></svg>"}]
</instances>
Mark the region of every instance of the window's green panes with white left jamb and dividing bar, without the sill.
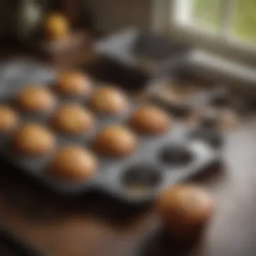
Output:
<instances>
[{"instance_id":1,"label":"window's green panes with white left jamb and dividing bar, without the sill","mask_svg":"<svg viewBox=\"0 0 256 256\"><path fill-rule=\"evenodd\" d=\"M178 24L255 44L256 0L175 0Z\"/></svg>"}]
</instances>

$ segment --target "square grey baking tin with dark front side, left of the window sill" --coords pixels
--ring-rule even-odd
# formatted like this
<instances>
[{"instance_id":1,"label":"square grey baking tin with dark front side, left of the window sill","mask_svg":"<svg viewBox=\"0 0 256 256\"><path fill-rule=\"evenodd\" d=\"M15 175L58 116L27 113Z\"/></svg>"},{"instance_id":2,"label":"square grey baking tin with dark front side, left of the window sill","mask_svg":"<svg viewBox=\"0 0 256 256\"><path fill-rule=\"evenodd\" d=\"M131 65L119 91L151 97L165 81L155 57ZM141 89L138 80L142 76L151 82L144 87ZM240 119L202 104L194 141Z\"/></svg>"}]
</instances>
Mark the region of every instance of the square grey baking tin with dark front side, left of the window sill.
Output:
<instances>
[{"instance_id":1,"label":"square grey baking tin with dark front side, left of the window sill","mask_svg":"<svg viewBox=\"0 0 256 256\"><path fill-rule=\"evenodd\" d=\"M101 79L117 82L126 90L143 90L163 61L185 57L191 47L129 28L98 40L95 50L99 55L95 69Z\"/></svg>"}]
</instances>

